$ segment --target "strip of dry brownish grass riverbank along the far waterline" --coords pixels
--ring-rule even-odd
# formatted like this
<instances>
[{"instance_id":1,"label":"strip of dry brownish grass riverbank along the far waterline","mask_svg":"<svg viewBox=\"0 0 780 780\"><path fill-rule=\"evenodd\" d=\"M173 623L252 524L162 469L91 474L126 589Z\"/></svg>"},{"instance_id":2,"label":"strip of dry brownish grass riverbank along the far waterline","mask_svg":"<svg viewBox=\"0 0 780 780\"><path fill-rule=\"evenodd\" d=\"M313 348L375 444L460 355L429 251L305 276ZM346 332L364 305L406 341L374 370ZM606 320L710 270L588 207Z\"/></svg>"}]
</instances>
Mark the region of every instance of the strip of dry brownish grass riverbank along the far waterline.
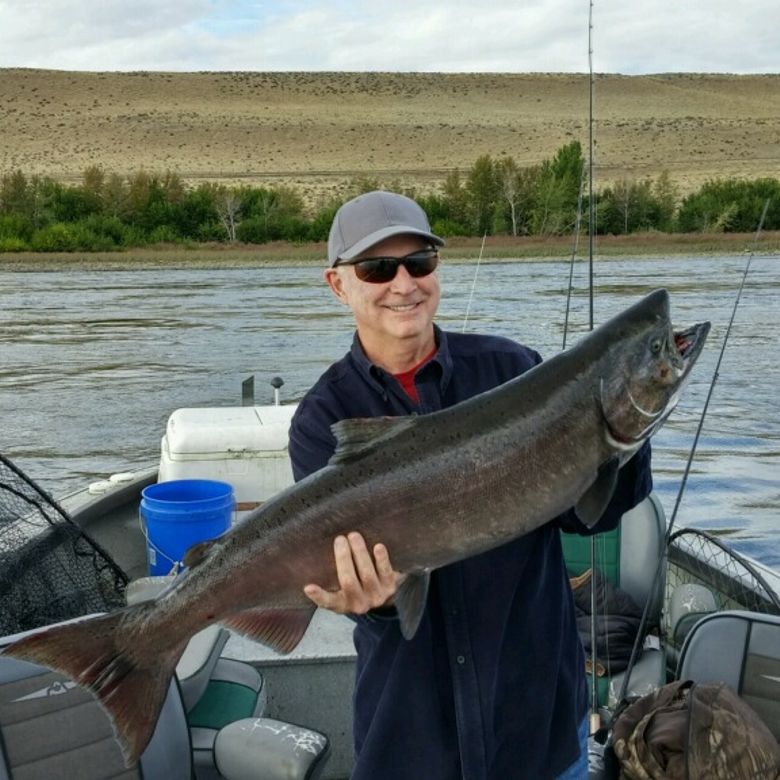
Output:
<instances>
[{"instance_id":1,"label":"strip of dry brownish grass riverbank along the far waterline","mask_svg":"<svg viewBox=\"0 0 780 780\"><path fill-rule=\"evenodd\" d=\"M598 236L594 257L601 260L625 257L673 258L675 255L725 255L749 253L752 233L635 233L628 236ZM482 240L454 238L443 250L444 258L468 262L479 257ZM484 261L566 260L571 258L571 236L490 236L482 253ZM587 255L587 237L581 237L577 258ZM780 255L780 231L763 233L757 254ZM323 264L324 243L260 245L162 245L121 252L19 252L0 254L3 271L149 270L159 268L262 268L270 265Z\"/></svg>"}]
</instances>

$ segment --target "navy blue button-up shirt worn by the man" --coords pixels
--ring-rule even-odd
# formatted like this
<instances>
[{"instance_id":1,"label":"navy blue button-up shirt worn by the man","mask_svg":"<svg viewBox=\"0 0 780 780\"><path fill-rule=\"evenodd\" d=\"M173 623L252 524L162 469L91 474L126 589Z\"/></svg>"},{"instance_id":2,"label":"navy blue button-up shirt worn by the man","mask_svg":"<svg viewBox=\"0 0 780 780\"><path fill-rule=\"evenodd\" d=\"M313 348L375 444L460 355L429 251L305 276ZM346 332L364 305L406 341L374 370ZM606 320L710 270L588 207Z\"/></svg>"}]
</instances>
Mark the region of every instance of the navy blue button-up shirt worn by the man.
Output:
<instances>
[{"instance_id":1,"label":"navy blue button-up shirt worn by the man","mask_svg":"<svg viewBox=\"0 0 780 780\"><path fill-rule=\"evenodd\" d=\"M436 343L436 355L415 377L416 405L395 377L367 359L356 336L293 418L295 478L327 463L336 444L330 426L338 420L434 412L541 360L493 336L436 328ZM649 463L645 445L621 469L594 531L613 528L650 492ZM380 512L381 501L377 496ZM355 780L543 780L574 762L588 697L560 528L589 533L569 512L435 571L411 641L401 636L393 610L357 620Z\"/></svg>"}]
</instances>

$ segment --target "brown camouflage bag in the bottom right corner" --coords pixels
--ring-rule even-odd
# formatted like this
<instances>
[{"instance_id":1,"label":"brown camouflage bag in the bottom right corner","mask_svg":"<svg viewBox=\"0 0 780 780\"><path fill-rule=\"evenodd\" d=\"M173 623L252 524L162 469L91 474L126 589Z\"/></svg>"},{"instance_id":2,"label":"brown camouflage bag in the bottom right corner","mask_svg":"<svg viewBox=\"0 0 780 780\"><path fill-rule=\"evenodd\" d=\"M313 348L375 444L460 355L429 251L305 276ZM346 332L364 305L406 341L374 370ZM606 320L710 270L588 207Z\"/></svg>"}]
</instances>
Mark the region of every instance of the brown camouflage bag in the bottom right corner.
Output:
<instances>
[{"instance_id":1,"label":"brown camouflage bag in the bottom right corner","mask_svg":"<svg viewBox=\"0 0 780 780\"><path fill-rule=\"evenodd\" d=\"M723 683L663 686L618 716L612 748L625 780L777 780L780 746Z\"/></svg>"}]
</instances>

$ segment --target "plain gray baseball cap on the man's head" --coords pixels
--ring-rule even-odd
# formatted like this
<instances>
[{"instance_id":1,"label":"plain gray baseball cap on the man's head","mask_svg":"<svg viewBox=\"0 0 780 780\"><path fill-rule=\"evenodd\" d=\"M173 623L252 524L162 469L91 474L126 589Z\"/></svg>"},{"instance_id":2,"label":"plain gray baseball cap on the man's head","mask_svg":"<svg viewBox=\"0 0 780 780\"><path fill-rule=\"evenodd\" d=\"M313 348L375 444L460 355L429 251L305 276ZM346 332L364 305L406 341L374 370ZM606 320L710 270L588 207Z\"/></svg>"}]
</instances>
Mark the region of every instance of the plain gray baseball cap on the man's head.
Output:
<instances>
[{"instance_id":1,"label":"plain gray baseball cap on the man's head","mask_svg":"<svg viewBox=\"0 0 780 780\"><path fill-rule=\"evenodd\" d=\"M354 260L374 244L404 233L444 246L444 241L431 233L425 212L411 198L379 190L358 195L341 206L333 218L328 264L332 268L339 260Z\"/></svg>"}]
</instances>

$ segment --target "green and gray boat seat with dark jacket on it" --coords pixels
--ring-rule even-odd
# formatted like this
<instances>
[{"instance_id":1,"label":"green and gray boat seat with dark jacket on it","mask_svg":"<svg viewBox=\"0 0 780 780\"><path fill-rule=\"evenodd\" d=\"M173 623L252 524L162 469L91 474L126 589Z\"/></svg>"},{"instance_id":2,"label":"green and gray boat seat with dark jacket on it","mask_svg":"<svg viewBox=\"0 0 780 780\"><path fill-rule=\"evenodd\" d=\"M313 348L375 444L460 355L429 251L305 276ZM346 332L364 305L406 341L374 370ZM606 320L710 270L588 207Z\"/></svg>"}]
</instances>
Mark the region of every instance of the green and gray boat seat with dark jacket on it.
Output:
<instances>
[{"instance_id":1,"label":"green and gray boat seat with dark jacket on it","mask_svg":"<svg viewBox=\"0 0 780 780\"><path fill-rule=\"evenodd\" d=\"M656 577L658 562L666 558L666 516L661 502L651 493L623 515L617 528L596 537L596 567L633 598L640 608L650 601L650 627L661 619L664 593L664 572ZM578 577L591 568L590 537L561 534L566 568L571 577ZM617 705L625 672L598 680L600 705ZM644 696L666 682L664 654L660 643L648 639L639 660L631 671L626 696ZM590 686L588 688L590 690Z\"/></svg>"}]
</instances>

